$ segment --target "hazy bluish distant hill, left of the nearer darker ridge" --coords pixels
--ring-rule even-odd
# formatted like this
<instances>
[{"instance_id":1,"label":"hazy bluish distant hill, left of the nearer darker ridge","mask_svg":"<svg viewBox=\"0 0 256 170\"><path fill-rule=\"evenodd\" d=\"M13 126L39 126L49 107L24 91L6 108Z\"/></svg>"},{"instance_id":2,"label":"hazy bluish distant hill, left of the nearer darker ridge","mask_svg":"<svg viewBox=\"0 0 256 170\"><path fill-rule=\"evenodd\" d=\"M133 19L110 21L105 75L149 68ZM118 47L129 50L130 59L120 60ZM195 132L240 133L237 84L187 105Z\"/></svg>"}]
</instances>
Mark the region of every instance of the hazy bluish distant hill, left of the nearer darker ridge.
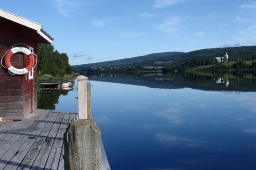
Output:
<instances>
[{"instance_id":1,"label":"hazy bluish distant hill, left of the nearer darker ridge","mask_svg":"<svg viewBox=\"0 0 256 170\"><path fill-rule=\"evenodd\" d=\"M104 61L98 63L90 63L90 64L81 64L75 65L72 67L129 67L129 66L151 66L157 65L158 61L162 61L164 58L168 58L167 63L169 61L169 57L182 54L182 52L164 52L164 53L155 53L150 55L143 55L138 57L114 60L114 61Z\"/></svg>"}]
</instances>

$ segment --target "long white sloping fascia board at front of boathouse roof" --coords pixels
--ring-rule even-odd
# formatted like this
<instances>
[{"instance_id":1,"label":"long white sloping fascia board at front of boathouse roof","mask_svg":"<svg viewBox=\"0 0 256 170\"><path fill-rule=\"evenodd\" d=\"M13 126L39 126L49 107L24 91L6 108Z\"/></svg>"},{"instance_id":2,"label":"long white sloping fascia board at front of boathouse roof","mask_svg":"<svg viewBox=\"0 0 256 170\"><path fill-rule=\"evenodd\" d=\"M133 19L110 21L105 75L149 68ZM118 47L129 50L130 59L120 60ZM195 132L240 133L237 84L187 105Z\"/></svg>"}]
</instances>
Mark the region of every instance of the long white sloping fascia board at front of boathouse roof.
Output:
<instances>
[{"instance_id":1,"label":"long white sloping fascia board at front of boathouse roof","mask_svg":"<svg viewBox=\"0 0 256 170\"><path fill-rule=\"evenodd\" d=\"M6 19L9 19L13 22L16 22L18 24L21 24L21 25L24 25L26 27L29 27L33 30L37 30L39 31L41 28L42 28L42 25L41 24L38 24L36 22L33 22L29 19L26 19L26 18L23 18L23 17L20 17L18 15L15 15L11 12L7 12L3 9L0 9L0 16L3 17L3 18L6 18Z\"/></svg>"}]
</instances>

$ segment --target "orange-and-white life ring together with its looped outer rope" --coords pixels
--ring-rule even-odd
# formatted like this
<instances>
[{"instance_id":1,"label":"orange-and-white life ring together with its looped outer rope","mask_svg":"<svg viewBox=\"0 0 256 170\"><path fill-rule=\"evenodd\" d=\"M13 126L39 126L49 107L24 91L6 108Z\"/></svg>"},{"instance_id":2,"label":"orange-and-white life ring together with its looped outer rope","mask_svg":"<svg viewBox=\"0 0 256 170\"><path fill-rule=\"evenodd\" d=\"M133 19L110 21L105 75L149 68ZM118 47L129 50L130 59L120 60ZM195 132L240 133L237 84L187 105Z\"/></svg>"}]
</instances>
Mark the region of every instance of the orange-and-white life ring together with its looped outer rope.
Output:
<instances>
[{"instance_id":1,"label":"orange-and-white life ring together with its looped outer rope","mask_svg":"<svg viewBox=\"0 0 256 170\"><path fill-rule=\"evenodd\" d=\"M13 45L12 49L6 51L6 53L3 55L2 59L1 59L1 65L2 65L2 67L7 68L8 72L12 75L16 75L16 74L22 75L22 74L29 73L37 65L37 59L36 60L34 59L35 54L30 51L29 46L27 46L26 44L22 44L22 45L27 46L28 49L25 47L15 47L17 45L21 45L21 43ZM11 58L15 53L24 53L29 58L29 63L25 68L17 69L12 66ZM35 55L35 56L37 57L37 55ZM4 59L6 67L3 65L3 59Z\"/></svg>"}]
</instances>

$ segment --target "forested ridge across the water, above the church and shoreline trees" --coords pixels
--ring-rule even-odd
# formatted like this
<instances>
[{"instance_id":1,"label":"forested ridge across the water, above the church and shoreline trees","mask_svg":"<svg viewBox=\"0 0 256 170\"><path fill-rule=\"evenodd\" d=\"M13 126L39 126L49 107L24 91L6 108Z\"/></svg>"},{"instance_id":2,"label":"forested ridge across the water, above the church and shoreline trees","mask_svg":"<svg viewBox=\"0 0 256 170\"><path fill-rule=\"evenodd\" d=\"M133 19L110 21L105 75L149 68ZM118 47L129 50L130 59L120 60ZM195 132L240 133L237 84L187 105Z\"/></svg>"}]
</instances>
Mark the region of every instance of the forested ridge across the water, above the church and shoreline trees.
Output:
<instances>
[{"instance_id":1,"label":"forested ridge across the water, above the church and shoreline trees","mask_svg":"<svg viewBox=\"0 0 256 170\"><path fill-rule=\"evenodd\" d=\"M105 61L98 63L82 64L73 66L75 68L81 67L144 67L144 66L169 66L181 65L186 61L197 58L202 59L204 57L223 57L225 53L228 53L229 58L236 61L237 58L243 59L248 58L256 54L256 46L241 46L241 47L227 47L227 48L213 48L213 49L200 49L196 51L191 51L188 53L182 52L165 52L156 53L150 55L144 55L139 57L115 60L115 61Z\"/></svg>"}]
</instances>

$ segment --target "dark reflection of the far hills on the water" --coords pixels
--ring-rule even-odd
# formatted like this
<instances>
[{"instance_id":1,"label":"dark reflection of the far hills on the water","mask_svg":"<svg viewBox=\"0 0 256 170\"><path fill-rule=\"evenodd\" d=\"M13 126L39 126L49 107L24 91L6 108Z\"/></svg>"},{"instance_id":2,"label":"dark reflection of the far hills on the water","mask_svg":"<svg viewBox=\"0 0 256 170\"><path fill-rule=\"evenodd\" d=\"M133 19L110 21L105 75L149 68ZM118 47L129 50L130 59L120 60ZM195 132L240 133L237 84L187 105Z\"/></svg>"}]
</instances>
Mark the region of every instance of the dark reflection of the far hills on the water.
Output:
<instances>
[{"instance_id":1,"label":"dark reflection of the far hills on the water","mask_svg":"<svg viewBox=\"0 0 256 170\"><path fill-rule=\"evenodd\" d=\"M142 85L151 88L193 88L206 91L256 91L256 73L250 71L224 73L97 73L86 75L91 80Z\"/></svg>"}]
</instances>

